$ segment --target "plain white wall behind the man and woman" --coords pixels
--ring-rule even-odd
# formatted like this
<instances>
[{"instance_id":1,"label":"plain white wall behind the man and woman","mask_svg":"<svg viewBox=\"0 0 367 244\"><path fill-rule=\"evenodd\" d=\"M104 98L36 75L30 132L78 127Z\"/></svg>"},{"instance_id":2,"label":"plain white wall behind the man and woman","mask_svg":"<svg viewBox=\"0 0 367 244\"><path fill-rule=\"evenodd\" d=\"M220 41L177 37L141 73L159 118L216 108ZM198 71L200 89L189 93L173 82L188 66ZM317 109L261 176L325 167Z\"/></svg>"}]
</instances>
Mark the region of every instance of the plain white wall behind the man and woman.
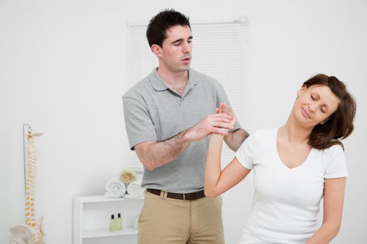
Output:
<instances>
[{"instance_id":1,"label":"plain white wall behind the man and woman","mask_svg":"<svg viewBox=\"0 0 367 244\"><path fill-rule=\"evenodd\" d=\"M24 222L23 123L44 133L36 139L36 204L48 243L71 243L73 196L102 194L106 181L126 167L127 22L147 23L168 7L192 22L248 17L251 82L244 84L247 119L241 123L250 132L285 123L296 89L311 75L347 83L358 111L345 141L350 176L333 243L367 243L362 0L0 1L0 243L9 227ZM224 195L227 243L236 242L251 198L251 177Z\"/></svg>"}]
</instances>

